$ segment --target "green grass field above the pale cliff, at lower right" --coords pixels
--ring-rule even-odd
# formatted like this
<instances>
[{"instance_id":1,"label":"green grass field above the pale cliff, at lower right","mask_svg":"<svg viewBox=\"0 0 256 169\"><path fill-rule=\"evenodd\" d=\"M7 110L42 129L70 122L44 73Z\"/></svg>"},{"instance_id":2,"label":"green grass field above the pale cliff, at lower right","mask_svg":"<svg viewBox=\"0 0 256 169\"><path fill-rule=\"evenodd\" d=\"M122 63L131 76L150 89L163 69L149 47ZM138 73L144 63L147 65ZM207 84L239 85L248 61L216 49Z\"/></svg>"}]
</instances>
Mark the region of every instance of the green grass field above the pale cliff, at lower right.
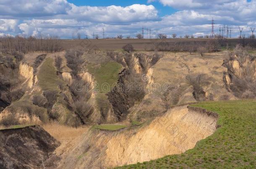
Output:
<instances>
[{"instance_id":1,"label":"green grass field above the pale cliff, at lower right","mask_svg":"<svg viewBox=\"0 0 256 169\"><path fill-rule=\"evenodd\" d=\"M183 154L118 168L256 168L256 101L202 102L192 106L217 112L221 127Z\"/></svg>"}]
</instances>

